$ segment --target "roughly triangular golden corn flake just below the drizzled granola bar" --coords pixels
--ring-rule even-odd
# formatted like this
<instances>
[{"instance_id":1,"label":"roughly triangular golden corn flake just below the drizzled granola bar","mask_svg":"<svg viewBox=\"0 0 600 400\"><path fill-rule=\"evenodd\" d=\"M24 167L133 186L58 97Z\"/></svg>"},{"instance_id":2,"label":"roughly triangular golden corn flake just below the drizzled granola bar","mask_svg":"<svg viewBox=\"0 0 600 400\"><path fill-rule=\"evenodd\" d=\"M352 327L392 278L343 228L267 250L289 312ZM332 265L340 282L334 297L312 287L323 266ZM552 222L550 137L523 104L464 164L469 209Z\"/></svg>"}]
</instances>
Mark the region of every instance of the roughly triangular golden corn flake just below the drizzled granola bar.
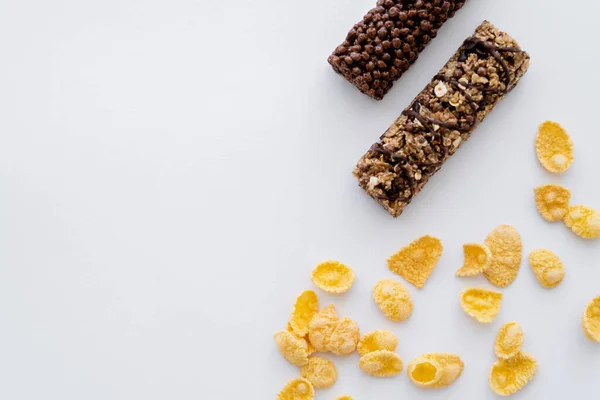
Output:
<instances>
[{"instance_id":1,"label":"roughly triangular golden corn flake just below the drizzled granola bar","mask_svg":"<svg viewBox=\"0 0 600 400\"><path fill-rule=\"evenodd\" d=\"M431 276L443 250L440 239L426 235L388 258L388 267L390 271L421 289Z\"/></svg>"}]
</instances>

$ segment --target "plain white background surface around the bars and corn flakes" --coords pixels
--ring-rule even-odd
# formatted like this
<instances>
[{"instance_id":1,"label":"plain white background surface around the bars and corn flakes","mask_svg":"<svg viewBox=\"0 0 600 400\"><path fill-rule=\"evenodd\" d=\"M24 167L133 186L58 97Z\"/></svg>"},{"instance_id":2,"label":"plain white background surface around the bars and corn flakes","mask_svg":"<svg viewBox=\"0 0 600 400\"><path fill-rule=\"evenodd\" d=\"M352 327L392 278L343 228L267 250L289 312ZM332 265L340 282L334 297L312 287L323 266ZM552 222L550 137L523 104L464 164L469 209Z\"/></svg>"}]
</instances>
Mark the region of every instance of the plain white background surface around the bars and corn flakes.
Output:
<instances>
[{"instance_id":1,"label":"plain white background surface around the bars and corn flakes","mask_svg":"<svg viewBox=\"0 0 600 400\"><path fill-rule=\"evenodd\" d=\"M328 258L357 280L345 295L318 291L322 305L395 332L405 364L445 351L466 366L423 391L336 358L339 380L317 400L493 399L492 344L510 320L540 366L515 398L595 396L600 345L580 320L600 293L600 243L544 222L532 191L560 183L600 207L600 3L470 0L375 102L326 63L374 2L0 3L0 398L274 399L298 370L272 335ZM352 168L483 19L517 38L531 69L393 219ZM546 119L575 143L563 176L535 158ZM454 273L461 245L501 223L521 232L525 257L484 326L458 295L489 284ZM371 288L423 234L444 255L423 290L409 286L412 317L391 323ZM566 266L555 290L526 261L540 247Z\"/></svg>"}]
</instances>

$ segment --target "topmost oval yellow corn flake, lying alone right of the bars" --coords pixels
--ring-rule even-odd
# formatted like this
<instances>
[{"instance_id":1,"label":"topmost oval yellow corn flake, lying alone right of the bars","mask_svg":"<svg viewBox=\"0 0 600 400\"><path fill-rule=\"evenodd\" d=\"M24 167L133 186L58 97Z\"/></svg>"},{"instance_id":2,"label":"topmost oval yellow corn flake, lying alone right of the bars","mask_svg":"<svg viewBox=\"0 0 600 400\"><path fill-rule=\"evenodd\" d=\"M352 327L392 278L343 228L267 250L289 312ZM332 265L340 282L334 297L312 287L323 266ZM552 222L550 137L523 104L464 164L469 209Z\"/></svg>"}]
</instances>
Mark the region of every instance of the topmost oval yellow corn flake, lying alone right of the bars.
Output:
<instances>
[{"instance_id":1,"label":"topmost oval yellow corn flake, lying alone right of the bars","mask_svg":"<svg viewBox=\"0 0 600 400\"><path fill-rule=\"evenodd\" d=\"M573 142L556 122L546 121L540 125L535 152L540 164L550 172L565 172L573 163Z\"/></svg>"}]
</instances>

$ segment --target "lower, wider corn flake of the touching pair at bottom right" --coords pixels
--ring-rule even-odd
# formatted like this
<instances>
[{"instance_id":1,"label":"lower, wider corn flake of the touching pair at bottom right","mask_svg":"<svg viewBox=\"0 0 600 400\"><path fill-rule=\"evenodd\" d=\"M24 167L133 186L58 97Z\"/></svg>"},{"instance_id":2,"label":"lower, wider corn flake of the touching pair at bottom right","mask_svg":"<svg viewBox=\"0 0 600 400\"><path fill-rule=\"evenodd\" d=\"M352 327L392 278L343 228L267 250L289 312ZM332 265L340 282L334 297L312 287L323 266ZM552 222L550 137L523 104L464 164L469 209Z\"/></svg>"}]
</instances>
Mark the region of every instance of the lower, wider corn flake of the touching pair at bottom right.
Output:
<instances>
[{"instance_id":1,"label":"lower, wider corn flake of the touching pair at bottom right","mask_svg":"<svg viewBox=\"0 0 600 400\"><path fill-rule=\"evenodd\" d=\"M490 387L500 396L510 396L523 389L537 373L536 359L528 353L518 353L508 360L498 360L490 372Z\"/></svg>"}]
</instances>

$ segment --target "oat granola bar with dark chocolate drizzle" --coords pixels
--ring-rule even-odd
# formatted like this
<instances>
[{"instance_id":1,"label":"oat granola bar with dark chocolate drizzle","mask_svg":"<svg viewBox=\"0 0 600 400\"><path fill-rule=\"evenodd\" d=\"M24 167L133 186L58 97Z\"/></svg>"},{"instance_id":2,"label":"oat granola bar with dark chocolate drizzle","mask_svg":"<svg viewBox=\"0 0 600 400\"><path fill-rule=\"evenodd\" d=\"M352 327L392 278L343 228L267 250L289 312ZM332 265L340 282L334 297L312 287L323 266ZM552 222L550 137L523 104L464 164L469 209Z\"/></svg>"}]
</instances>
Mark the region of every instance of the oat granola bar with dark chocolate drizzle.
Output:
<instances>
[{"instance_id":1,"label":"oat granola bar with dark chocolate drizzle","mask_svg":"<svg viewBox=\"0 0 600 400\"><path fill-rule=\"evenodd\" d=\"M529 68L517 42L484 21L354 169L394 217Z\"/></svg>"}]
</instances>

